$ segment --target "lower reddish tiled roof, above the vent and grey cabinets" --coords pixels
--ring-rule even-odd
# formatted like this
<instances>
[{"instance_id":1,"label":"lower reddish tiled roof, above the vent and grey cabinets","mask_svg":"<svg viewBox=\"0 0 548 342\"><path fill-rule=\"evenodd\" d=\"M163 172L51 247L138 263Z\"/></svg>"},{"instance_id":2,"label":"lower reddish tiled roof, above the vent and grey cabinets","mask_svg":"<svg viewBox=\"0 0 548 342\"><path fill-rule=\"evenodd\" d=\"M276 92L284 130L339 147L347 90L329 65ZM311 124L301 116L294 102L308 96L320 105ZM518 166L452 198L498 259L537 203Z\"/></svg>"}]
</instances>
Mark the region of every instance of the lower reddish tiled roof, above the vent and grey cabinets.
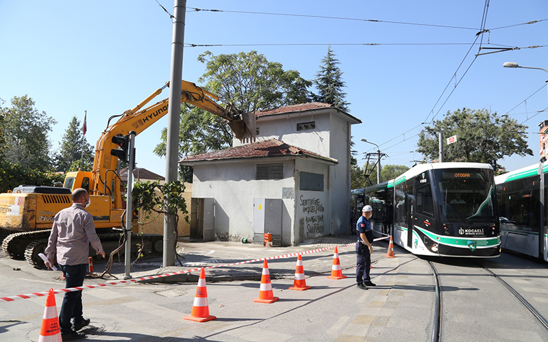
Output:
<instances>
[{"instance_id":1,"label":"lower reddish tiled roof, above the vent and grey cabinets","mask_svg":"<svg viewBox=\"0 0 548 342\"><path fill-rule=\"evenodd\" d=\"M224 150L214 150L203 155L194 155L186 157L180 162L188 161L211 161L221 159L236 159L236 158L260 158L260 157L281 157L281 156L305 156L323 159L325 161L332 161L336 163L336 159L323 157L317 153L304 150L303 148L288 145L277 139L262 140L260 142L253 142L252 144L245 144L241 146L225 148Z\"/></svg>"}]
</instances>

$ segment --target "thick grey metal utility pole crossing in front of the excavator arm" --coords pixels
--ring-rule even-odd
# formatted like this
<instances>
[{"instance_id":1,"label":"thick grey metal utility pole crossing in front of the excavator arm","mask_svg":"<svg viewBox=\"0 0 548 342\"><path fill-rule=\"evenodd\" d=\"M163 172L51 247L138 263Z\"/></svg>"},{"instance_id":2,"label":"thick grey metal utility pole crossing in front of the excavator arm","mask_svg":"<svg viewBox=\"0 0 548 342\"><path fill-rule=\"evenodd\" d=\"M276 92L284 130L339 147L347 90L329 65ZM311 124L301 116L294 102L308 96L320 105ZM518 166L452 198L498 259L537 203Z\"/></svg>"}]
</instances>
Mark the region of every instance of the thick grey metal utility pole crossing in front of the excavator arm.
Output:
<instances>
[{"instance_id":1,"label":"thick grey metal utility pole crossing in front of the excavator arm","mask_svg":"<svg viewBox=\"0 0 548 342\"><path fill-rule=\"evenodd\" d=\"M169 78L169 109L166 145L166 182L177 181L179 161L179 120L181 118L181 81L183 75L183 44L186 0L173 4L173 40L171 42L171 71ZM171 199L166 198L166 204ZM163 267L175 265L176 231L173 215L164 214Z\"/></svg>"}]
</instances>

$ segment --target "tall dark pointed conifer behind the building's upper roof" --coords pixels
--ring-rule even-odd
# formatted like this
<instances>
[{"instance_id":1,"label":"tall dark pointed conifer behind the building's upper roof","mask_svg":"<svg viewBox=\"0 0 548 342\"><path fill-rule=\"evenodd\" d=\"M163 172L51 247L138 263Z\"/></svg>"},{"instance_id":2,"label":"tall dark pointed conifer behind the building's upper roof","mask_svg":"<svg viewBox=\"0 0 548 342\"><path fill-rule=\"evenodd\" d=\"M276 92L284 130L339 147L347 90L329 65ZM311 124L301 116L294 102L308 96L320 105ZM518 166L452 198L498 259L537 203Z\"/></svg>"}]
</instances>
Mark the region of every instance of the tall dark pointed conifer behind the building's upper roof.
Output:
<instances>
[{"instance_id":1,"label":"tall dark pointed conifer behind the building's upper roof","mask_svg":"<svg viewBox=\"0 0 548 342\"><path fill-rule=\"evenodd\" d=\"M338 67L338 60L335 58L331 46L327 48L327 55L321 60L320 70L316 73L314 85L319 94L315 96L315 101L329 103L337 108L349 111L348 103L345 101L347 93L343 92L345 81L343 81L343 72Z\"/></svg>"}]
</instances>

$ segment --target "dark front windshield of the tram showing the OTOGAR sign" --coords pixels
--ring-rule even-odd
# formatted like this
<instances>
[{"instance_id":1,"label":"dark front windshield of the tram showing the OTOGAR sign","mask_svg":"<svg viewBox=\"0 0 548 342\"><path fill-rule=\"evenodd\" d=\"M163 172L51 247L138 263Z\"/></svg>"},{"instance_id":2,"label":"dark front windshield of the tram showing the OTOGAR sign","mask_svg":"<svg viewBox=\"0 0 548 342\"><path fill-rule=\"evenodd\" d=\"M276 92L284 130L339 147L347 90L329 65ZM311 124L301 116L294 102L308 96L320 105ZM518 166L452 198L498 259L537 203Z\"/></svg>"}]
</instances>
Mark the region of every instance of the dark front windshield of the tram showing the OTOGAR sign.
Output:
<instances>
[{"instance_id":1,"label":"dark front windshield of the tram showing the OTOGAR sign","mask_svg":"<svg viewBox=\"0 0 548 342\"><path fill-rule=\"evenodd\" d=\"M493 171L487 169L435 170L438 200L445 220L471 223L494 220Z\"/></svg>"}]
</instances>

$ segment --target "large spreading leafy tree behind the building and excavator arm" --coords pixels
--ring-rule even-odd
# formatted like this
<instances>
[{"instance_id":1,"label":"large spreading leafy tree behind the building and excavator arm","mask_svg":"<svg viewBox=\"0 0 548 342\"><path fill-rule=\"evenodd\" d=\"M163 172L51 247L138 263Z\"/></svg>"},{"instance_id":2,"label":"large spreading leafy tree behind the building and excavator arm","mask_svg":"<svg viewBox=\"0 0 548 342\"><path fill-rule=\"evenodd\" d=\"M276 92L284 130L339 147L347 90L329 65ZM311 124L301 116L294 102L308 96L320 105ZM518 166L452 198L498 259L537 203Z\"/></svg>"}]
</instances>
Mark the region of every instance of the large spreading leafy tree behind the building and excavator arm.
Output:
<instances>
[{"instance_id":1,"label":"large spreading leafy tree behind the building and excavator arm","mask_svg":"<svg viewBox=\"0 0 548 342\"><path fill-rule=\"evenodd\" d=\"M202 88L242 111L310 101L308 87L312 81L303 79L296 70L284 70L278 62L269 62L257 51L227 55L213 55L206 51L199 55L198 60L206 64L206 72L199 79L206 83ZM163 129L162 141L154 150L156 155L166 155L166 135L167 130ZM182 106L179 158L232 146L232 136L221 117L196 107ZM190 167L180 169L182 174L186 174L185 181L192 180L189 170Z\"/></svg>"}]
</instances>

